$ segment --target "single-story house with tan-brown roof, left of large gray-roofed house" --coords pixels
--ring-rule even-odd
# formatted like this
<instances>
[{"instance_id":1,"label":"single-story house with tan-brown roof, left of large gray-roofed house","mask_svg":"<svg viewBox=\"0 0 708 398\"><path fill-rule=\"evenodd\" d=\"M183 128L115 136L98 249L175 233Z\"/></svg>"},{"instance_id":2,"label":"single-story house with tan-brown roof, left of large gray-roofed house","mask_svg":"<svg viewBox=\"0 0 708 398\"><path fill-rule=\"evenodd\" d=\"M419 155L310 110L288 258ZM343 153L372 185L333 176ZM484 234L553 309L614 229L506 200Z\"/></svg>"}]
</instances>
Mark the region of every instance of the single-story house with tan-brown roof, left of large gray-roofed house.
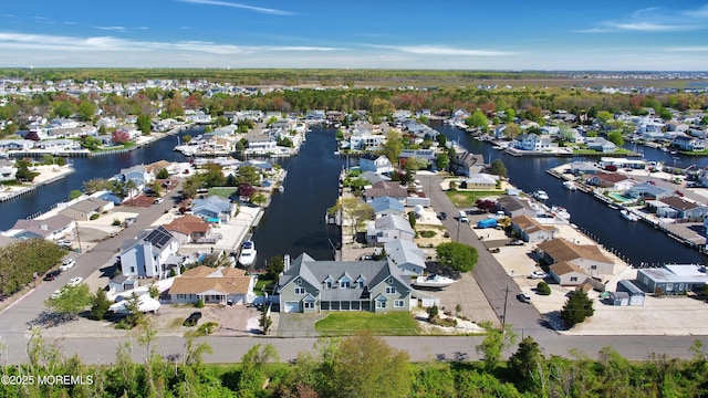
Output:
<instances>
[{"instance_id":1,"label":"single-story house with tan-brown roof, left of large gray-roofed house","mask_svg":"<svg viewBox=\"0 0 708 398\"><path fill-rule=\"evenodd\" d=\"M256 280L237 268L199 265L175 277L168 290L174 304L248 304L256 298Z\"/></svg>"}]
</instances>

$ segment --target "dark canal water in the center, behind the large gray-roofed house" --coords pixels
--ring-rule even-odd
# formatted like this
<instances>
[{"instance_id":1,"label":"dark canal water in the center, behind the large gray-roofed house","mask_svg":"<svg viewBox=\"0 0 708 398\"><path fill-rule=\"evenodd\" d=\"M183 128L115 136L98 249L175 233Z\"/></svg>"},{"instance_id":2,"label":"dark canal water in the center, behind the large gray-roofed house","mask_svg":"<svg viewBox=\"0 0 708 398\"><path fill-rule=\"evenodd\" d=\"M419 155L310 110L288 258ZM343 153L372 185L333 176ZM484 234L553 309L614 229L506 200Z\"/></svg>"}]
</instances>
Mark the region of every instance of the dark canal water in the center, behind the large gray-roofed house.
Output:
<instances>
[{"instance_id":1,"label":"dark canal water in the center, behind the large gray-roofed house","mask_svg":"<svg viewBox=\"0 0 708 398\"><path fill-rule=\"evenodd\" d=\"M336 129L313 127L300 155L282 159L288 170L284 192L275 192L253 234L258 268L274 255L303 251L315 260L333 260L332 244L339 228L326 226L324 216L337 199L337 180L344 160L334 155ZM332 242L332 243L331 243Z\"/></svg>"}]
</instances>

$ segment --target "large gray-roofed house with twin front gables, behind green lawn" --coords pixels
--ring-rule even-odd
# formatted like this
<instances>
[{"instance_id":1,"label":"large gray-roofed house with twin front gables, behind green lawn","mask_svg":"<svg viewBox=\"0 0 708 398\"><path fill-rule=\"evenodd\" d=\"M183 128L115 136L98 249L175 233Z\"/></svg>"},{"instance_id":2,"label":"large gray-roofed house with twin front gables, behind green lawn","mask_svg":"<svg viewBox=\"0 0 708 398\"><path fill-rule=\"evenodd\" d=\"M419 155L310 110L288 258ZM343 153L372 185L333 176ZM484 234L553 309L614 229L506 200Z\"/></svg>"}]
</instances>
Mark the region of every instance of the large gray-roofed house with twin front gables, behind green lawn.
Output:
<instances>
[{"instance_id":1,"label":"large gray-roofed house with twin front gables, behind green lawn","mask_svg":"<svg viewBox=\"0 0 708 398\"><path fill-rule=\"evenodd\" d=\"M280 311L410 311L410 283L389 261L315 261L302 253L278 280Z\"/></svg>"}]
</instances>

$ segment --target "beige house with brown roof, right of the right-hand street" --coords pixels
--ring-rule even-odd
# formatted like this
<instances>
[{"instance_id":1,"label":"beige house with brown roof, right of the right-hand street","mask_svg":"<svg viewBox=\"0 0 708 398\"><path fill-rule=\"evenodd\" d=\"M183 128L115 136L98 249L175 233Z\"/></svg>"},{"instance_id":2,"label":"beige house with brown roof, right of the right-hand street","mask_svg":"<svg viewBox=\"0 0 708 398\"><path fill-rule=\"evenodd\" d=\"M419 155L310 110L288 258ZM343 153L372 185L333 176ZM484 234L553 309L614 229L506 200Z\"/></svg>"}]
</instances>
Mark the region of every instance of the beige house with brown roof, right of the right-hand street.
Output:
<instances>
[{"instance_id":1,"label":"beige house with brown roof, right of the right-hand street","mask_svg":"<svg viewBox=\"0 0 708 398\"><path fill-rule=\"evenodd\" d=\"M605 256L596 244L576 244L562 238L539 243L539 256L549 264L566 261L590 275L614 273L614 262Z\"/></svg>"}]
</instances>

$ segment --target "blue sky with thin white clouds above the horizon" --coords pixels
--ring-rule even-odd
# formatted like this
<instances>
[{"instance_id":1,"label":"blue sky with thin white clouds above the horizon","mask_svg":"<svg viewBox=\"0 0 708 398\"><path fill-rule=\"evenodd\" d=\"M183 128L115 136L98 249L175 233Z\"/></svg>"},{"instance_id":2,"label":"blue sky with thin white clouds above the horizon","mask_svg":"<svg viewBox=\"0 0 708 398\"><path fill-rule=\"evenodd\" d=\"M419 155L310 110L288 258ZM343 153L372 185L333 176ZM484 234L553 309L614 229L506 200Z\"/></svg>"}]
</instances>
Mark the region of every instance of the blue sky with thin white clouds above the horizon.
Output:
<instances>
[{"instance_id":1,"label":"blue sky with thin white clouds above the horizon","mask_svg":"<svg viewBox=\"0 0 708 398\"><path fill-rule=\"evenodd\" d=\"M708 3L6 1L11 66L708 71Z\"/></svg>"}]
</instances>

